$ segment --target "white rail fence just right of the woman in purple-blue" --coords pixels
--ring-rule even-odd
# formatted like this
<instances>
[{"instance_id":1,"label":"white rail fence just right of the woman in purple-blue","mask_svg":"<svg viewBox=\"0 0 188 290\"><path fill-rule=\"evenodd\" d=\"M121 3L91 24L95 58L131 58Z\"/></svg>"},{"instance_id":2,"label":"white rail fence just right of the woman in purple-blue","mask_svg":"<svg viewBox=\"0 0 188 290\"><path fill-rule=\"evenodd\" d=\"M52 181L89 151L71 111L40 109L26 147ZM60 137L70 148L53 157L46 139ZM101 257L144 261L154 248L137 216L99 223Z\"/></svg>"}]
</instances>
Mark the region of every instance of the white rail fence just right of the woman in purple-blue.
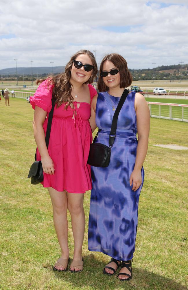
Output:
<instances>
[{"instance_id":1,"label":"white rail fence just right of the woman in purple-blue","mask_svg":"<svg viewBox=\"0 0 188 290\"><path fill-rule=\"evenodd\" d=\"M147 102L150 117L188 122L188 105Z\"/></svg>"}]
</instances>

